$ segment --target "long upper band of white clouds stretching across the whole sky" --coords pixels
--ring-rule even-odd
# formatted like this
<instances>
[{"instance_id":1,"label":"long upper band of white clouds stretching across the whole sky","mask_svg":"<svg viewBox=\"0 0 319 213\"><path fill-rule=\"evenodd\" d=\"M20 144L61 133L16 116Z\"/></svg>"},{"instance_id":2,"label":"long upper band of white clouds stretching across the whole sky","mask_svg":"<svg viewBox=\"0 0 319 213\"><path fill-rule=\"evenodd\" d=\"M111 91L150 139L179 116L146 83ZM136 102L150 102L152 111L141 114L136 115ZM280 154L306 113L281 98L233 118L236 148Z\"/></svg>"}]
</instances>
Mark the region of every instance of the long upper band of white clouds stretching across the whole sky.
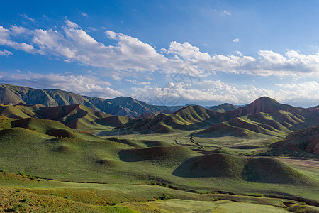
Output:
<instances>
[{"instance_id":1,"label":"long upper band of white clouds stretching across the whole sky","mask_svg":"<svg viewBox=\"0 0 319 213\"><path fill-rule=\"evenodd\" d=\"M184 65L189 65L198 76L216 71L264 76L318 75L319 72L319 53L303 55L288 50L281 55L272 50L259 50L257 57L239 51L235 55L213 55L203 53L191 43L176 41L157 52L151 45L123 33L105 31L105 35L113 45L95 40L77 23L66 19L60 31L0 26L0 45L33 54L53 55L65 62L102 67L110 72L176 73ZM26 38L28 43L19 43L18 37Z\"/></svg>"}]
</instances>

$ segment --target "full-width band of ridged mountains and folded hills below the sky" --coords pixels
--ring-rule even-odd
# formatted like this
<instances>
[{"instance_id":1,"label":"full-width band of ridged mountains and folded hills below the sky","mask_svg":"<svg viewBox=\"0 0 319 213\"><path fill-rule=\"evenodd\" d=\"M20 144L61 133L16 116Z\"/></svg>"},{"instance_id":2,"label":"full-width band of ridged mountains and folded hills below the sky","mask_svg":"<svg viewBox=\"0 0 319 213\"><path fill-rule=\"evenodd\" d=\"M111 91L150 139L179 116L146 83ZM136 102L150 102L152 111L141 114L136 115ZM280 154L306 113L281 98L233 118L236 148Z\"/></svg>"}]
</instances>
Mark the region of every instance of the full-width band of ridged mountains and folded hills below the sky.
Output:
<instances>
[{"instance_id":1,"label":"full-width band of ridged mountains and folded hills below the sky","mask_svg":"<svg viewBox=\"0 0 319 213\"><path fill-rule=\"evenodd\" d=\"M284 138L293 131L319 124L318 107L293 107L269 97L260 97L243 107L164 107L130 97L100 99L56 89L1 84L0 102L0 114L5 119L49 119L80 131L114 129L119 134L193 131L198 138ZM10 126L5 119L1 120L4 129Z\"/></svg>"}]
</instances>

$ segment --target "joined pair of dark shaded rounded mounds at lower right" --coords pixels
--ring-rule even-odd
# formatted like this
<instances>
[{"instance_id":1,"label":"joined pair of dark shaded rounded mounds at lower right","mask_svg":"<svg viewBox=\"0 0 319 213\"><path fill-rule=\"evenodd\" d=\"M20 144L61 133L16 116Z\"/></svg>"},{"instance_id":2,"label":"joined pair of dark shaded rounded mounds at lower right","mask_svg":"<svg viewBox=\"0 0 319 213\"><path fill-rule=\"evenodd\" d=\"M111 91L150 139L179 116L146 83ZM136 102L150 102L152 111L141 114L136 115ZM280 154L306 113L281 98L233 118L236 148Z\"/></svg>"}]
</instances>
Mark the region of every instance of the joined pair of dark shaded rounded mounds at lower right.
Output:
<instances>
[{"instance_id":1,"label":"joined pair of dark shaded rounded mounds at lower right","mask_svg":"<svg viewBox=\"0 0 319 213\"><path fill-rule=\"evenodd\" d=\"M307 183L308 178L274 158L213 153L190 158L174 170L181 177L223 177L264 183Z\"/></svg>"}]
</instances>

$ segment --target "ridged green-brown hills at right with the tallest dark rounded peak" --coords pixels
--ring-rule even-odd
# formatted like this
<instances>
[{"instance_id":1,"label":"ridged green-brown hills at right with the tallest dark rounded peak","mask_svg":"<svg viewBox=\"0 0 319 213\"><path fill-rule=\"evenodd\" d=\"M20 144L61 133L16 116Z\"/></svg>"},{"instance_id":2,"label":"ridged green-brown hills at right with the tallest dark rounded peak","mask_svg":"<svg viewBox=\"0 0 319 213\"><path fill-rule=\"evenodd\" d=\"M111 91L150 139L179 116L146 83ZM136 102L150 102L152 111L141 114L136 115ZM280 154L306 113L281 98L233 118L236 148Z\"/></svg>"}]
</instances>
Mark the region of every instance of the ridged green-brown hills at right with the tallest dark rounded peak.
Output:
<instances>
[{"instance_id":1,"label":"ridged green-brown hills at right with the tallest dark rounded peak","mask_svg":"<svg viewBox=\"0 0 319 213\"><path fill-rule=\"evenodd\" d=\"M220 124L221 122L225 123ZM256 132L284 136L296 129L315 124L319 124L318 109L292 107L280 104L269 97L262 97L245 107L223 113L198 105L189 105L173 114L158 114L129 121L120 129L125 129L126 133L133 131L168 133L174 130L208 128L200 134L247 136L248 132Z\"/></svg>"}]
</instances>

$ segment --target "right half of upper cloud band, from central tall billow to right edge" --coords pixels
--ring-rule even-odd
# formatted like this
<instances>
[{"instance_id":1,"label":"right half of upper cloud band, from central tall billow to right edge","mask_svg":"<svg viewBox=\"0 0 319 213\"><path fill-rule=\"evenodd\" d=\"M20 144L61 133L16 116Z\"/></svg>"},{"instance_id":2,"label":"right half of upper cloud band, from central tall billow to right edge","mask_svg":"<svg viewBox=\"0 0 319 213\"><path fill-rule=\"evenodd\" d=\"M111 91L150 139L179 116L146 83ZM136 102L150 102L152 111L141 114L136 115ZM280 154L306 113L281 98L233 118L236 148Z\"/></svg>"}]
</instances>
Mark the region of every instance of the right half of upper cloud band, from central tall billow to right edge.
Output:
<instances>
[{"instance_id":1,"label":"right half of upper cloud band, from central tall billow to right edge","mask_svg":"<svg viewBox=\"0 0 319 213\"><path fill-rule=\"evenodd\" d=\"M213 70L252 75L296 76L318 74L319 53L303 55L296 50L289 50L285 55L271 50L260 50L259 57L237 55L209 55L190 43L172 42L167 53L189 63L198 70ZM238 54L238 52L237 52Z\"/></svg>"}]
</instances>

